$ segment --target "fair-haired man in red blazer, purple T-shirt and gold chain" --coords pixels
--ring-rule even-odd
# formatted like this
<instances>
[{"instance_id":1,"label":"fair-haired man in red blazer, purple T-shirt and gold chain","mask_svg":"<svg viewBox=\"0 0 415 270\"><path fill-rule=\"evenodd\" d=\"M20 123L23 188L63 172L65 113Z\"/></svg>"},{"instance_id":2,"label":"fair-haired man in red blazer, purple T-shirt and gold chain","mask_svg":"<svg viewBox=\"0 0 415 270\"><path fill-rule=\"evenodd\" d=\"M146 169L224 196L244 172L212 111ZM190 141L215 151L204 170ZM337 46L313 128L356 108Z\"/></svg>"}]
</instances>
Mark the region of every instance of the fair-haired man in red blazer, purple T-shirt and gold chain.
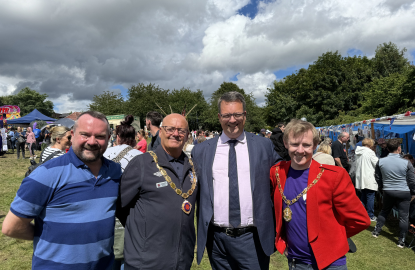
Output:
<instances>
[{"instance_id":1,"label":"fair-haired man in red blazer, purple T-shirt and gold chain","mask_svg":"<svg viewBox=\"0 0 415 270\"><path fill-rule=\"evenodd\" d=\"M270 170L275 246L289 269L343 270L347 238L366 229L370 219L346 170L312 160L318 140L309 122L286 125L283 141L291 160Z\"/></svg>"}]
</instances>

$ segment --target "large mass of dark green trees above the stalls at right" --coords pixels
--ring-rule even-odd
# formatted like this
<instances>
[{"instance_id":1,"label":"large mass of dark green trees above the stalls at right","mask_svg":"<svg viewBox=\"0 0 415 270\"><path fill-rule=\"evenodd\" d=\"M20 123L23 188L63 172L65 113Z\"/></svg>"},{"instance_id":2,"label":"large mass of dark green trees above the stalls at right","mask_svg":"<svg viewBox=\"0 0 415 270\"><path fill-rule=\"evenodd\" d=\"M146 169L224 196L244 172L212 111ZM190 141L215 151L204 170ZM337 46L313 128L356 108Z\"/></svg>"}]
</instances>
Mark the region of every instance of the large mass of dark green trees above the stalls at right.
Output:
<instances>
[{"instance_id":1,"label":"large mass of dark green trees above the stalls at right","mask_svg":"<svg viewBox=\"0 0 415 270\"><path fill-rule=\"evenodd\" d=\"M413 65L389 42L375 55L343 57L327 51L308 68L274 81L265 94L266 122L306 117L315 126L391 115L413 103Z\"/></svg>"}]
</instances>

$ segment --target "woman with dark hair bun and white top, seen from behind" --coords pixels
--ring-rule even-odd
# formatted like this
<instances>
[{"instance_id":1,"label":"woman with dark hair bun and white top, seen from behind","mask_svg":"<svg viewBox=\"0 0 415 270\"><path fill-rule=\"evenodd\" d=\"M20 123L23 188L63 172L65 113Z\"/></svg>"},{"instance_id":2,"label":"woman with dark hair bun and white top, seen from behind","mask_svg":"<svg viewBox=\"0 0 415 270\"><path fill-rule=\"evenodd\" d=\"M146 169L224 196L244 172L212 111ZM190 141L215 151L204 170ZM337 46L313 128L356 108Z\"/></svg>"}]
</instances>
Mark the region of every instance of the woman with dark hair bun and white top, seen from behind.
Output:
<instances>
[{"instance_id":1,"label":"woman with dark hair bun and white top, seen from behind","mask_svg":"<svg viewBox=\"0 0 415 270\"><path fill-rule=\"evenodd\" d=\"M103 156L109 160L118 162L121 165L121 171L124 171L128 162L136 155L142 154L141 151L134 149L135 146L135 129L131 125L134 121L134 116L127 115L121 124L115 130L116 146L108 147ZM123 269L124 256L124 227L115 219L115 233L114 233L114 255L115 260L112 264L112 269Z\"/></svg>"}]
</instances>

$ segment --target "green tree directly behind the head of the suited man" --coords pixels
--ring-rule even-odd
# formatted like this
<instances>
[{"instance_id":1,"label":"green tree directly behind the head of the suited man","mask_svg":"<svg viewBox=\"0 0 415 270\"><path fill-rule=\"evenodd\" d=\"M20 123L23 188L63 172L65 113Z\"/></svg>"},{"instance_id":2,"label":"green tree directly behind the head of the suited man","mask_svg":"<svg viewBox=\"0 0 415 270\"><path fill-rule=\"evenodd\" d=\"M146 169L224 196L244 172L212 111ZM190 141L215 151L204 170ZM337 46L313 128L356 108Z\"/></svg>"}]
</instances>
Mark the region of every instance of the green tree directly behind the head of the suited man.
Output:
<instances>
[{"instance_id":1,"label":"green tree directly behind the head of the suited man","mask_svg":"<svg viewBox=\"0 0 415 270\"><path fill-rule=\"evenodd\" d=\"M219 97L228 91L237 91L243 95L245 98L245 108L246 108L246 122L245 130L246 131L256 131L258 132L261 128L265 127L265 121L263 118L263 110L258 107L255 102L255 98L252 93L245 93L245 90L239 88L233 82L223 82L220 84L220 87L212 93L209 98L209 107L200 118L203 119L203 126L209 130L221 130L221 126L217 117L218 108L217 100Z\"/></svg>"}]
</instances>

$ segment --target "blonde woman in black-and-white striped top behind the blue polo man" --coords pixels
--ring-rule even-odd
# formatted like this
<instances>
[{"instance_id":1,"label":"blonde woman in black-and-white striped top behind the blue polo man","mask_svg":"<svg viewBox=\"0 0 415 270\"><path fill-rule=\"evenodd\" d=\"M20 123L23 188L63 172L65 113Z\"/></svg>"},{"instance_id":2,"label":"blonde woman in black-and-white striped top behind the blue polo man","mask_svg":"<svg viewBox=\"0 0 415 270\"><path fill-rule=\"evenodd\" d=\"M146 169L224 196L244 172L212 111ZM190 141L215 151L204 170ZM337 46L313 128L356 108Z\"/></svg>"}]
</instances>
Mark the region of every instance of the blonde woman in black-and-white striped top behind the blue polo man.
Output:
<instances>
[{"instance_id":1,"label":"blonde woman in black-and-white striped top behind the blue polo man","mask_svg":"<svg viewBox=\"0 0 415 270\"><path fill-rule=\"evenodd\" d=\"M61 156L66 152L66 149L72 145L70 142L72 136L70 135L70 129L64 125L52 127L50 130L50 144L43 150L43 154L40 154L39 160L43 162L49 155L54 152L58 152L52 157Z\"/></svg>"}]
</instances>

